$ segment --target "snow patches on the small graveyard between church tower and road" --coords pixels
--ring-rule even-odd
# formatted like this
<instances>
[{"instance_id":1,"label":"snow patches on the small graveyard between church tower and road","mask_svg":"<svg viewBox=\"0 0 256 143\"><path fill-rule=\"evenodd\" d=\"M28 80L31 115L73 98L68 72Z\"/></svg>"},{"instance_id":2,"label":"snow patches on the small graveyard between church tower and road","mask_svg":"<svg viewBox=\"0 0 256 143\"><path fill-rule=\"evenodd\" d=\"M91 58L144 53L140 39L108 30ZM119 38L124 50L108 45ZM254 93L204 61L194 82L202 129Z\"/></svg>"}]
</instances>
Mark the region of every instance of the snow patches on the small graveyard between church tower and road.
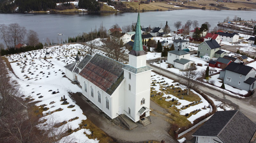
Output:
<instances>
[{"instance_id":1,"label":"snow patches on the small graveyard between church tower and road","mask_svg":"<svg viewBox=\"0 0 256 143\"><path fill-rule=\"evenodd\" d=\"M207 108L207 109L202 109L202 108L204 108L204 106L207 107L207 106L209 105L209 103L208 103L200 94L196 93L194 90L191 90L191 91L192 91L193 93L197 94L197 95L201 98L201 101L202 101L202 102L199 103L199 104L196 104L196 105L191 105L191 106L189 106L189 107L186 108L186 109L182 109L183 106L186 106L186 105L188 105L188 104L190 104L190 103L193 103L193 102L190 102L190 101L187 101L187 100L184 100L184 99L179 99L179 98L177 98L176 96L174 96L174 95L172 95L172 94L166 94L166 93L164 93L164 92L160 89L160 84L162 85L162 84L168 83L169 85L171 85L171 84L176 85L176 84L178 84L178 82L174 82L174 83L173 83L173 80L172 80L172 79L168 79L168 78L166 78L166 77L164 77L164 76L161 76L161 75L159 75L159 74L157 74L157 73L155 73L155 72L151 72L151 75L152 75L151 81L154 81L154 82L155 82L155 85L156 85L156 86L152 86L152 87L155 88L155 89L152 89L152 90L155 90L157 93L158 93L158 92L162 92L162 93L163 93L162 97L164 97L164 98L165 98L165 101L167 101L167 102L171 102L171 101L172 101L172 98L177 99L177 101L180 102L181 104L180 104L180 105L174 105L174 106L175 106L177 109L180 110L180 115L185 115L186 113L193 112L193 111L196 110L196 109L201 109L201 111L197 112L195 115L192 115L192 116L190 116L189 118L187 118L188 121L190 121L192 124L193 124L194 120L196 120L197 118L199 118L199 117L201 117L201 116L204 116L205 114L208 114L208 113L209 113L209 108ZM155 81L155 80L156 80L156 81ZM159 83L156 83L157 81L158 81ZM165 81L165 82L160 83L161 81ZM175 88L179 87L179 88L181 88L181 90L184 90L184 89L185 89L185 88L181 87L180 85L179 85L179 86L174 86L174 87L175 87ZM171 88L172 88L172 87L171 87ZM170 97L168 98L168 96L170 96ZM212 109L212 107L211 107L211 109Z\"/></svg>"}]
</instances>

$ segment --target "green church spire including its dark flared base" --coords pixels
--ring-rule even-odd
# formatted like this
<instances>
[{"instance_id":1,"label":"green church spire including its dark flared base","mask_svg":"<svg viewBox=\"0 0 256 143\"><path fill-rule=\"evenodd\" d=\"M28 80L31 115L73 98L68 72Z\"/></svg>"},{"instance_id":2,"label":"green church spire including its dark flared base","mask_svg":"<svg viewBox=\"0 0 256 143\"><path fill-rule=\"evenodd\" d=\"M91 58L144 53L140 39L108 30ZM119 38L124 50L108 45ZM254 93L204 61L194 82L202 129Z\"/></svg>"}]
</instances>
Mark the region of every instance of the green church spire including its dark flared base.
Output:
<instances>
[{"instance_id":1,"label":"green church spire including its dark flared base","mask_svg":"<svg viewBox=\"0 0 256 143\"><path fill-rule=\"evenodd\" d=\"M143 51L143 47L142 47L142 38L141 38L141 30L140 30L140 12L138 13L136 31L134 35L135 35L134 45L132 50L128 54L131 54L133 56L146 55L147 53Z\"/></svg>"}]
</instances>

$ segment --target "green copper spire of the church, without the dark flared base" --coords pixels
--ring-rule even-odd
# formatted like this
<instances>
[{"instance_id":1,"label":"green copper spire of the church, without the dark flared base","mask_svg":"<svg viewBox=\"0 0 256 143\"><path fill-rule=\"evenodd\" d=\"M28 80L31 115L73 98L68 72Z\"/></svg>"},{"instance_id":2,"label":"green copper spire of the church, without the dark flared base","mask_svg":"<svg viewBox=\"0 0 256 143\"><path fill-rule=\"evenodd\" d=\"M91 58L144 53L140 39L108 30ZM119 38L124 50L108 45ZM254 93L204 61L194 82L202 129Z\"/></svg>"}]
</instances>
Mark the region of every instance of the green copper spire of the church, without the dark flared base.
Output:
<instances>
[{"instance_id":1,"label":"green copper spire of the church, without the dark flared base","mask_svg":"<svg viewBox=\"0 0 256 143\"><path fill-rule=\"evenodd\" d=\"M134 51L143 51L142 38L141 38L141 29L140 29L140 11L138 13L138 19L137 19L136 31L135 31L135 38L134 38L134 45L133 45L132 50L134 50Z\"/></svg>"}]
</instances>

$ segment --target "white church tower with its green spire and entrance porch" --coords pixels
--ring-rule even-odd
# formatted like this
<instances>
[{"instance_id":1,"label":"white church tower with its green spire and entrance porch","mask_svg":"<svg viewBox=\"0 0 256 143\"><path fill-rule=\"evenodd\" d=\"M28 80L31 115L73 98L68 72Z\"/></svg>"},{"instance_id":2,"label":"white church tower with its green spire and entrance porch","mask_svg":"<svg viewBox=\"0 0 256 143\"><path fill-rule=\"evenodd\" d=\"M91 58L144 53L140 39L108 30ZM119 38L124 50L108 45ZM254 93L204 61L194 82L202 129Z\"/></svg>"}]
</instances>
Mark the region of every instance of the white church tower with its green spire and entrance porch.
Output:
<instances>
[{"instance_id":1,"label":"white church tower with its green spire and entrance porch","mask_svg":"<svg viewBox=\"0 0 256 143\"><path fill-rule=\"evenodd\" d=\"M140 9L138 13L135 39L129 54L129 64L124 69L124 114L138 122L149 116L150 77L152 69L146 65L147 53L142 47L140 29Z\"/></svg>"}]
</instances>

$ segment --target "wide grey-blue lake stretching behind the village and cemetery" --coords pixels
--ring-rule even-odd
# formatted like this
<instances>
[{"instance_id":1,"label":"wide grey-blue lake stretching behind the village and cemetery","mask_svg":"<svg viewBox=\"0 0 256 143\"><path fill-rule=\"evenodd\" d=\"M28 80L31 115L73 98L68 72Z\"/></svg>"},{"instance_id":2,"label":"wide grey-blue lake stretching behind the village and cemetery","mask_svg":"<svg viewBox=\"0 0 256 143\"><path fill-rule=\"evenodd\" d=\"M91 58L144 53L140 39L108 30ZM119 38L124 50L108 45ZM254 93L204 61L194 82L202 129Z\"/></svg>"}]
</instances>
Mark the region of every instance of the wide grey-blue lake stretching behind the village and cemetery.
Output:
<instances>
[{"instance_id":1,"label":"wide grey-blue lake stretching behind the village and cemetery","mask_svg":"<svg viewBox=\"0 0 256 143\"><path fill-rule=\"evenodd\" d=\"M76 36L83 32L98 29L100 23L108 30L113 24L120 27L131 25L137 21L136 12L126 13L58 13L58 14L0 14L0 24L8 25L10 23L19 23L25 26L27 30L31 29L38 33L41 42L46 41L48 37L54 42L65 41L68 36ZM210 11L210 10L174 10L174 11L150 11L140 13L140 23L142 27L164 27L166 21L171 30L174 28L173 23L182 21L184 24L187 20L197 20L201 25L204 22L211 24L211 29L222 22L227 16L233 19L234 16L241 17L244 20L255 20L256 11ZM63 35L57 35L62 33ZM2 40L1 40L2 41ZM0 41L0 42L1 42Z\"/></svg>"}]
</instances>

